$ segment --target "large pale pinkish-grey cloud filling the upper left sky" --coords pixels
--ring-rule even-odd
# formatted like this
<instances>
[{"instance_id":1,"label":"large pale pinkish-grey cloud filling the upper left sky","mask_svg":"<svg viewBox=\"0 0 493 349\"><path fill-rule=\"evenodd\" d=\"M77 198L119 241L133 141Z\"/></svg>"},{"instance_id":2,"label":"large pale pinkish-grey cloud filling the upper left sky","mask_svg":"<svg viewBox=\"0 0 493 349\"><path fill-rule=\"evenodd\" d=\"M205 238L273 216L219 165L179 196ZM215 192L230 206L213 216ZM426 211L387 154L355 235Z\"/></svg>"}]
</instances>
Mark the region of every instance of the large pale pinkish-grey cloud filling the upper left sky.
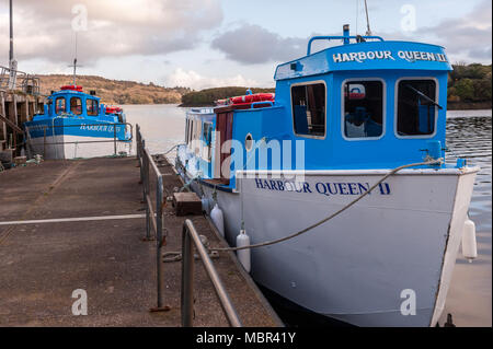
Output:
<instances>
[{"instance_id":1,"label":"large pale pinkish-grey cloud filling the upper left sky","mask_svg":"<svg viewBox=\"0 0 493 349\"><path fill-rule=\"evenodd\" d=\"M78 32L80 61L168 54L195 47L221 21L219 0L16 0L14 50L18 59L70 61L72 27L87 24ZM0 11L0 51L9 50L8 35L8 12Z\"/></svg>"}]
</instances>

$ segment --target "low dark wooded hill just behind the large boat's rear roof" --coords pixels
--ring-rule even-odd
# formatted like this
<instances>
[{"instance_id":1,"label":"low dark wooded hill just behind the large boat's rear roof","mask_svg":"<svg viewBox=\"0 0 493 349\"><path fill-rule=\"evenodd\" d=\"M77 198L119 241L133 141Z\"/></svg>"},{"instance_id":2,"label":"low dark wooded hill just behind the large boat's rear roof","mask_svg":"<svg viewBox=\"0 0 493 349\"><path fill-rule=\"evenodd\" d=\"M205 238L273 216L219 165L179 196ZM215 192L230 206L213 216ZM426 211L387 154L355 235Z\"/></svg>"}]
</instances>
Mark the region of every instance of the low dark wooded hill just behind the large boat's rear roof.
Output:
<instances>
[{"instance_id":1,"label":"low dark wooded hill just behind the large boat's rear roof","mask_svg":"<svg viewBox=\"0 0 493 349\"><path fill-rule=\"evenodd\" d=\"M253 93L275 92L275 89L251 89ZM229 86L192 91L182 96L180 106L209 106L214 101L244 95L246 88Z\"/></svg>"}]
</instances>

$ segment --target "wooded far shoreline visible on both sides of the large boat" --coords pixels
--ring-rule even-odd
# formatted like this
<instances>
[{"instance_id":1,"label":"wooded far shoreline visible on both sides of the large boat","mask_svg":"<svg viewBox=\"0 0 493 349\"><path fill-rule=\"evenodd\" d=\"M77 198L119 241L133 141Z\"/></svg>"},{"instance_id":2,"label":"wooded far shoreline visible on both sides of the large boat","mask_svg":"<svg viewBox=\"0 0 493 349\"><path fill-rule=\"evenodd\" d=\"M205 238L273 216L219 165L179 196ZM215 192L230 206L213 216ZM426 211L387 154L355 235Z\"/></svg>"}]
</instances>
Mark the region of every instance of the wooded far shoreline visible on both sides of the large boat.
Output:
<instances>
[{"instance_id":1,"label":"wooded far shoreline visible on both sides of the large boat","mask_svg":"<svg viewBox=\"0 0 493 349\"><path fill-rule=\"evenodd\" d=\"M447 108L449 110L492 108L492 66L456 63L448 74ZM70 84L72 75L38 75L43 94ZM78 75L77 84L84 91L94 90L106 104L179 104L182 107L214 106L217 100L244 95L246 86L225 86L193 91L188 88L165 88L135 81L111 80L95 75ZM251 89L253 93L275 92L275 89Z\"/></svg>"}]
</instances>

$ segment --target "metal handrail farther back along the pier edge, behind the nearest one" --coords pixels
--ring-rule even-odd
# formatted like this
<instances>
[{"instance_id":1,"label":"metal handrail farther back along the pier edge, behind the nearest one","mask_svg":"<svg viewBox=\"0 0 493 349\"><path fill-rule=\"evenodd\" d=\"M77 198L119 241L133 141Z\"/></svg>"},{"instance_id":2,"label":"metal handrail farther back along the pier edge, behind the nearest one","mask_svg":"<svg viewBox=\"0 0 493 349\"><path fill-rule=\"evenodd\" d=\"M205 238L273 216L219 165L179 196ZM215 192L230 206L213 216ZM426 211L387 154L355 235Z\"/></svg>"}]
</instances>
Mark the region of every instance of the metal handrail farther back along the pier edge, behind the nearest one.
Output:
<instances>
[{"instance_id":1,"label":"metal handrail farther back along the pier edge, behind the nearest one","mask_svg":"<svg viewBox=\"0 0 493 349\"><path fill-rule=\"evenodd\" d=\"M152 155L146 149L146 142L140 132L140 126L136 126L137 138L137 160L140 165L140 183L142 184L142 202L146 203L146 237L144 241L151 241L151 226L156 234L156 263L157 263L157 283L158 283L158 306L151 309L152 312L169 311L170 307L164 305L163 290L164 278L162 270L162 247L165 245L165 235L163 235L163 182L162 174L154 163ZM152 199L150 196L150 168L156 175L156 212L152 208Z\"/></svg>"}]
</instances>

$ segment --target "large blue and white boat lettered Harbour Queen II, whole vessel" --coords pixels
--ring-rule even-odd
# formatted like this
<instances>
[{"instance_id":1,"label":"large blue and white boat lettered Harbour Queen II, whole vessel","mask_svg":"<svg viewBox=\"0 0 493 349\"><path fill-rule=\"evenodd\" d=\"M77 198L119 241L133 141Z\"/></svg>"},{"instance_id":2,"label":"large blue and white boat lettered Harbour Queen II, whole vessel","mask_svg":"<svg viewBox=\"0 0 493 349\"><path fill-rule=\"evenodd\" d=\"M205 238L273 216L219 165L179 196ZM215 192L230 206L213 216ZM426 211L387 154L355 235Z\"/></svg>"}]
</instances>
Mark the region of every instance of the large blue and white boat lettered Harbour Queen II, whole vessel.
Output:
<instances>
[{"instance_id":1,"label":"large blue and white boat lettered Harbour Queen II, whole vessel","mask_svg":"<svg viewBox=\"0 0 493 349\"><path fill-rule=\"evenodd\" d=\"M312 53L314 40L342 45ZM252 244L300 232L391 174L323 224L251 248L251 275L345 323L435 326L479 171L445 161L450 70L436 45L351 36L348 26L313 37L307 56L277 67L274 101L191 109L176 168L222 211L232 246L242 230Z\"/></svg>"}]
</instances>

